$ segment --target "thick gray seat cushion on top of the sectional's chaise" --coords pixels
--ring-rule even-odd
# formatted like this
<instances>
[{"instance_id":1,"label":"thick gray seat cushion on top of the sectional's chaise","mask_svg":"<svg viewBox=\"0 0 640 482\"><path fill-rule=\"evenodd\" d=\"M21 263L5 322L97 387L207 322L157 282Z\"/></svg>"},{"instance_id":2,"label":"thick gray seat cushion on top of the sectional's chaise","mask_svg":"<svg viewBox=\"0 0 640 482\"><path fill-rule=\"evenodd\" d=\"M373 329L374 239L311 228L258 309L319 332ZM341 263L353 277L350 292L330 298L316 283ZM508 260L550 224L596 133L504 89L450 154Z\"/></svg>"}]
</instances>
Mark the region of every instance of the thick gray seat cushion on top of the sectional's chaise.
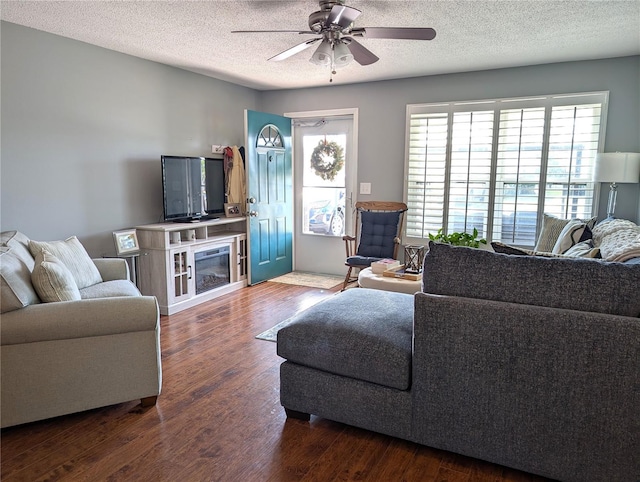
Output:
<instances>
[{"instance_id":1,"label":"thick gray seat cushion on top of the sectional's chaise","mask_svg":"<svg viewBox=\"0 0 640 482\"><path fill-rule=\"evenodd\" d=\"M278 355L310 368L407 390L413 295L354 288L300 313L278 332Z\"/></svg>"}]
</instances>

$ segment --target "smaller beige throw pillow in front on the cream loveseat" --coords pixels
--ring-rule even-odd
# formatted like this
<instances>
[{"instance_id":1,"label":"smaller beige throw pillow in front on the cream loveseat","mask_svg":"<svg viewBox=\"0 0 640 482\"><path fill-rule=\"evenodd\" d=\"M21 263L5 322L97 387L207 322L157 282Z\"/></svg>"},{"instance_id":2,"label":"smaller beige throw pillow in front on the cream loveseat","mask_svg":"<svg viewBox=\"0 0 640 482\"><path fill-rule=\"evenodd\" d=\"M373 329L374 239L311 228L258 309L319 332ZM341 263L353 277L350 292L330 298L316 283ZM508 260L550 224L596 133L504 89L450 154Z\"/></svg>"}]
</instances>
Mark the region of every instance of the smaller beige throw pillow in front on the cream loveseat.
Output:
<instances>
[{"instance_id":1,"label":"smaller beige throw pillow in front on the cream loveseat","mask_svg":"<svg viewBox=\"0 0 640 482\"><path fill-rule=\"evenodd\" d=\"M31 282L38 296L45 303L80 299L80 291L71 272L58 258L47 251L40 251L36 255Z\"/></svg>"}]
</instances>

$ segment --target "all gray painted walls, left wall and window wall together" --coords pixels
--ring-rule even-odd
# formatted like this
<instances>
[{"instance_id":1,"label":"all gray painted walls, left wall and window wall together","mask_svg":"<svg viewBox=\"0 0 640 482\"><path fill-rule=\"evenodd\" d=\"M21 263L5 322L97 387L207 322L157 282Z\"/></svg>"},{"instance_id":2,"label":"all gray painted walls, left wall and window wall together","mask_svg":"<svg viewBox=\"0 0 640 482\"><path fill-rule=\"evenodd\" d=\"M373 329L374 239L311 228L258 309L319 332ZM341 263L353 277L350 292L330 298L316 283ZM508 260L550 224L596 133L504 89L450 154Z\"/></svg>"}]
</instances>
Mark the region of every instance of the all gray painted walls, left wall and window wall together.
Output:
<instances>
[{"instance_id":1,"label":"all gray painted walls, left wall and window wall together","mask_svg":"<svg viewBox=\"0 0 640 482\"><path fill-rule=\"evenodd\" d=\"M376 199L402 198L409 103L609 90L605 151L640 152L638 56L258 92L6 22L0 30L0 228L75 234L94 256L113 253L112 231L160 219L160 155L241 145L244 109L359 108L358 181ZM637 185L621 186L617 216L640 220L639 197Z\"/></svg>"}]
</instances>

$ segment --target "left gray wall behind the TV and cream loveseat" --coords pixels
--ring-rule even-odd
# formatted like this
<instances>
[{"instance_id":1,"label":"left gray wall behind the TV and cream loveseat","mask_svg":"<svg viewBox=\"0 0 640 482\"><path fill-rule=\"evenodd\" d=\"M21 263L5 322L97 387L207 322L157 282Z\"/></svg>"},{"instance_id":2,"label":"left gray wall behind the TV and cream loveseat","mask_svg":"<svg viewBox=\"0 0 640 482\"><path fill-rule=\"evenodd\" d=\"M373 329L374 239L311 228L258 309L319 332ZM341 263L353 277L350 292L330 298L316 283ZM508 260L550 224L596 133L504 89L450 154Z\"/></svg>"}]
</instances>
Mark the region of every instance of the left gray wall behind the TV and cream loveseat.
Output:
<instances>
[{"instance_id":1,"label":"left gray wall behind the TV and cream loveseat","mask_svg":"<svg viewBox=\"0 0 640 482\"><path fill-rule=\"evenodd\" d=\"M77 235L113 254L112 231L162 216L160 156L242 145L259 92L2 22L2 230Z\"/></svg>"}]
</instances>

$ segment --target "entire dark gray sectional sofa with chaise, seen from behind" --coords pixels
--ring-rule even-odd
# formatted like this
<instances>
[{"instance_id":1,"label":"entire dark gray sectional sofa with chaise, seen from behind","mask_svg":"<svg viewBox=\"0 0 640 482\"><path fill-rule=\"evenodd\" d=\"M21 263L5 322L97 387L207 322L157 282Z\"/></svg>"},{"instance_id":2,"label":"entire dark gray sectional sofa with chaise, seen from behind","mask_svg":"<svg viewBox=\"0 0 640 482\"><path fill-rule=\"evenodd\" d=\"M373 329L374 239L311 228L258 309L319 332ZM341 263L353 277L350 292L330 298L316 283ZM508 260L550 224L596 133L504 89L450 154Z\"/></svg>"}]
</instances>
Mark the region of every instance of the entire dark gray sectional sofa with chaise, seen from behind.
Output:
<instances>
[{"instance_id":1,"label":"entire dark gray sectional sofa with chaise, seen from behind","mask_svg":"<svg viewBox=\"0 0 640 482\"><path fill-rule=\"evenodd\" d=\"M431 244L423 290L278 333L281 403L566 481L640 480L640 265Z\"/></svg>"}]
</instances>

